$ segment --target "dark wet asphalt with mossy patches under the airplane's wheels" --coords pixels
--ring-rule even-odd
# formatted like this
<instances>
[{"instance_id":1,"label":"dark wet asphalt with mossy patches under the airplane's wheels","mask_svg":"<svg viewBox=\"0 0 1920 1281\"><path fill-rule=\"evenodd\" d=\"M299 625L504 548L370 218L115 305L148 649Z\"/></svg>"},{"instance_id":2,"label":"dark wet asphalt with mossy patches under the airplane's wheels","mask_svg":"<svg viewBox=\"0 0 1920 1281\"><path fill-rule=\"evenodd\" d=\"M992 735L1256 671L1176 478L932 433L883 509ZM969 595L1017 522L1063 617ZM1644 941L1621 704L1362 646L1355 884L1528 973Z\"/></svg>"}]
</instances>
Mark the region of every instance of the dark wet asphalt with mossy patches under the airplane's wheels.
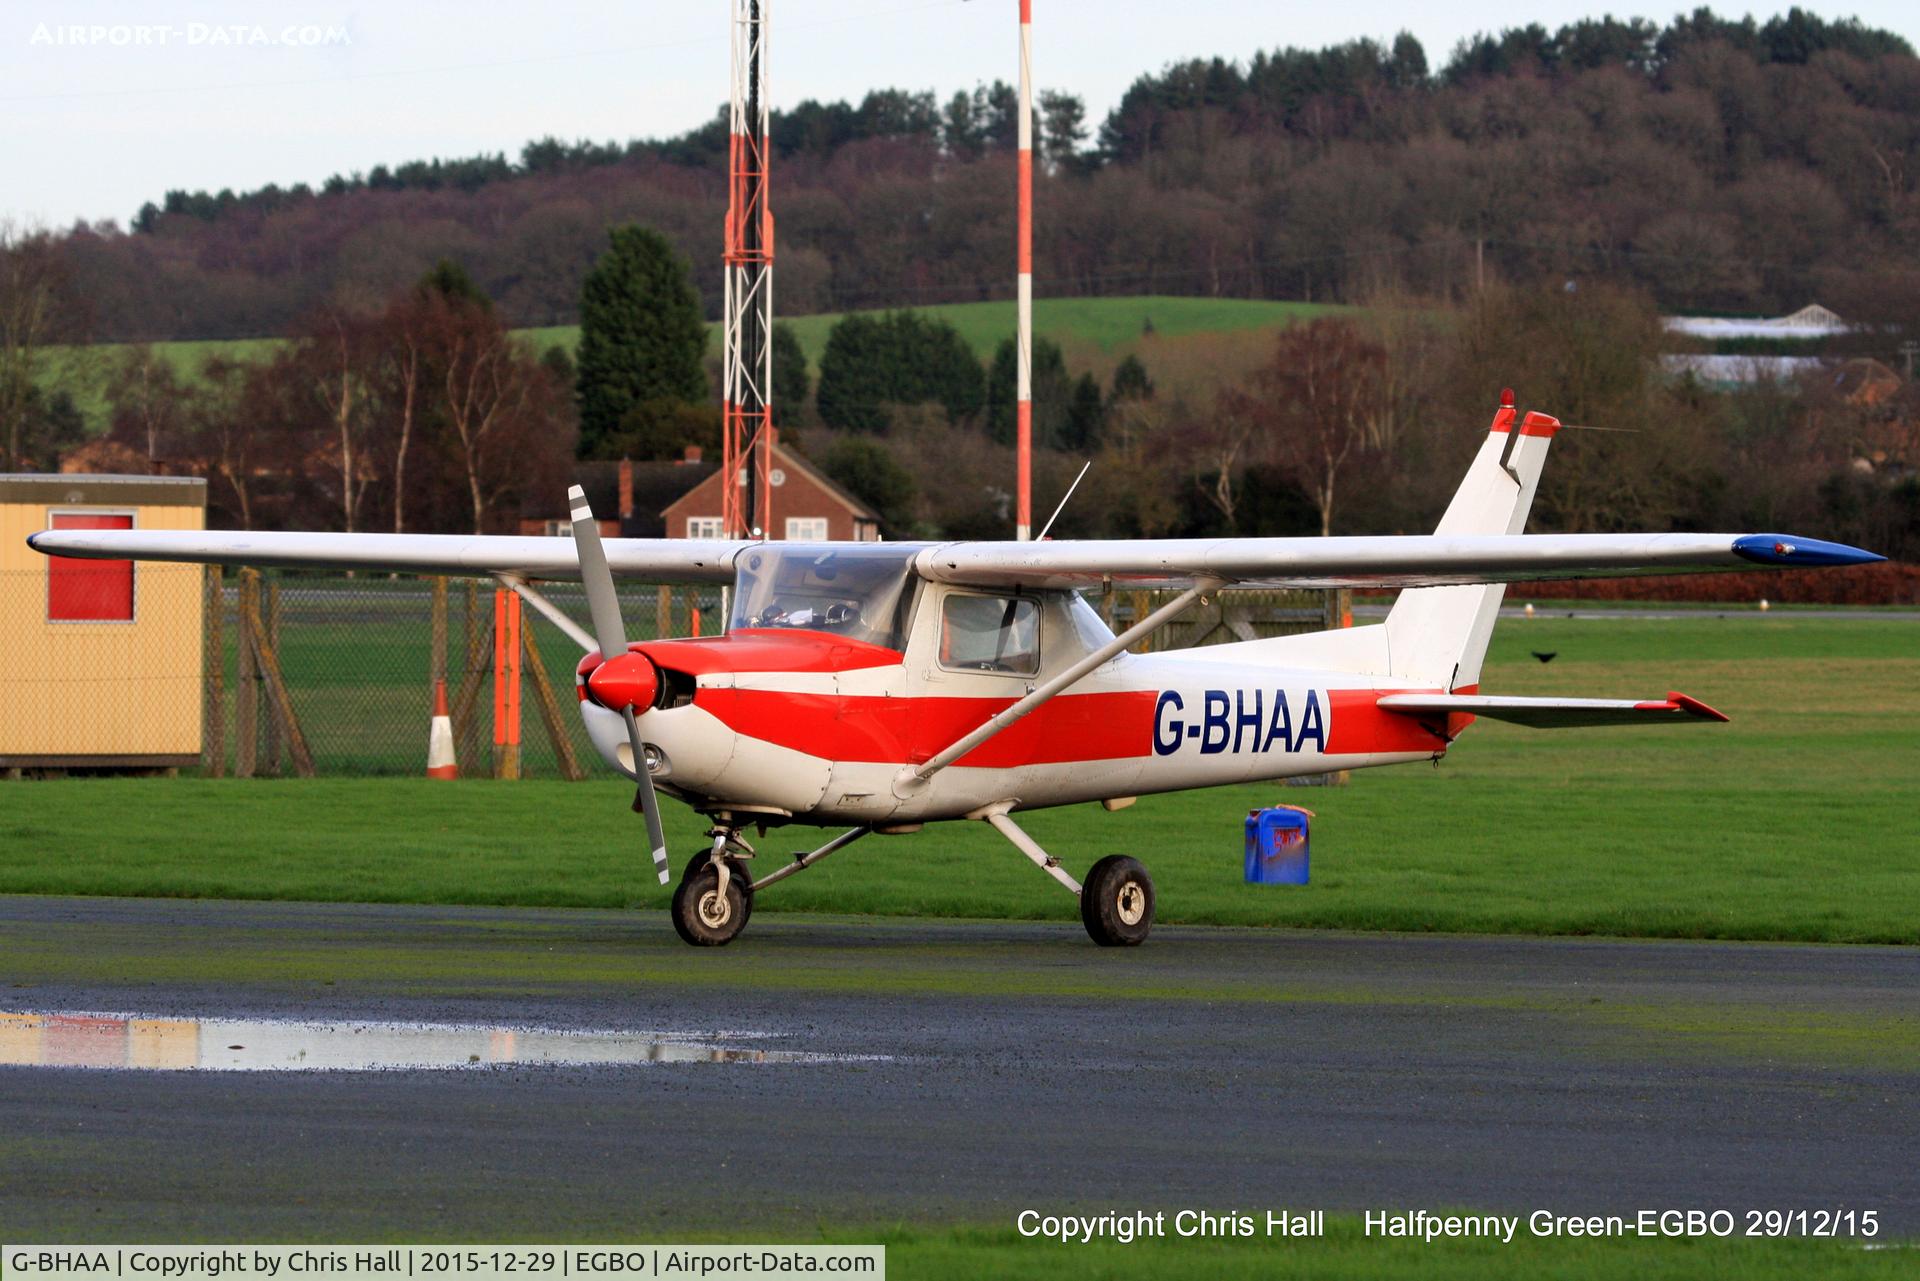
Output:
<instances>
[{"instance_id":1,"label":"dark wet asphalt with mossy patches under the airplane's wheels","mask_svg":"<svg viewBox=\"0 0 1920 1281\"><path fill-rule=\"evenodd\" d=\"M659 912L0 897L0 1010L787 1052L100 1070L15 1035L10 1241L764 1239L1021 1208L1920 1231L1916 949L1164 928L1108 951L1068 924L762 910L695 951Z\"/></svg>"}]
</instances>

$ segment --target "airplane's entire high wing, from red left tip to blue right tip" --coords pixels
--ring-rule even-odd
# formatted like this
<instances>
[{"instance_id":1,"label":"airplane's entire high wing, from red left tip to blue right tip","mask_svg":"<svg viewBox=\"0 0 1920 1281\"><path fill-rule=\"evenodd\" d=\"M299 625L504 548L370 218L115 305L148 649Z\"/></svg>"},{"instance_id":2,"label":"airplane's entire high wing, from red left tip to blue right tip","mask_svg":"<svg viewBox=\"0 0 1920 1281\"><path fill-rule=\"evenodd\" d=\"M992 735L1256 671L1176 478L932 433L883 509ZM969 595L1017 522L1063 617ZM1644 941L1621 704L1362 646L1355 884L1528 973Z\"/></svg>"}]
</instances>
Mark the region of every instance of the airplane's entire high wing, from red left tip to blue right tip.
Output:
<instances>
[{"instance_id":1,"label":"airplane's entire high wing, from red left tip to blue right tip","mask_svg":"<svg viewBox=\"0 0 1920 1281\"><path fill-rule=\"evenodd\" d=\"M482 534L257 534L213 530L42 530L46 555L202 561L282 568L376 568L417 574L580 578L568 538ZM732 582L751 544L611 538L614 574L647 582ZM872 547L872 544L814 544ZM1258 588L1425 588L1615 574L1674 574L1751 565L1812 568L1885 557L1786 534L1484 534L1390 538L1142 538L927 545L914 568L979 588L1185 588L1202 578Z\"/></svg>"}]
</instances>

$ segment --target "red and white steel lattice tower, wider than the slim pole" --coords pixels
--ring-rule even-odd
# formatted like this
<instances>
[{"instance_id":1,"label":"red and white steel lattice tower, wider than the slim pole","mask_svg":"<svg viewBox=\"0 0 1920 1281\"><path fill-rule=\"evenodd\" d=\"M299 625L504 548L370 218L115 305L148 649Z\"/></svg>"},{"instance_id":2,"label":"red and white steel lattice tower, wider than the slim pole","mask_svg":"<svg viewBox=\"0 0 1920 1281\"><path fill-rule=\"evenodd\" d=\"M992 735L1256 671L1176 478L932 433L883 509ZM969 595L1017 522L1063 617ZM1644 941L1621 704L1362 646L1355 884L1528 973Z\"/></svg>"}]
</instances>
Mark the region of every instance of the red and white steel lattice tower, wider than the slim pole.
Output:
<instances>
[{"instance_id":1,"label":"red and white steel lattice tower, wider than the slim pole","mask_svg":"<svg viewBox=\"0 0 1920 1281\"><path fill-rule=\"evenodd\" d=\"M720 520L726 538L770 536L774 457L774 211L766 198L770 0L733 0L728 136Z\"/></svg>"}]
</instances>

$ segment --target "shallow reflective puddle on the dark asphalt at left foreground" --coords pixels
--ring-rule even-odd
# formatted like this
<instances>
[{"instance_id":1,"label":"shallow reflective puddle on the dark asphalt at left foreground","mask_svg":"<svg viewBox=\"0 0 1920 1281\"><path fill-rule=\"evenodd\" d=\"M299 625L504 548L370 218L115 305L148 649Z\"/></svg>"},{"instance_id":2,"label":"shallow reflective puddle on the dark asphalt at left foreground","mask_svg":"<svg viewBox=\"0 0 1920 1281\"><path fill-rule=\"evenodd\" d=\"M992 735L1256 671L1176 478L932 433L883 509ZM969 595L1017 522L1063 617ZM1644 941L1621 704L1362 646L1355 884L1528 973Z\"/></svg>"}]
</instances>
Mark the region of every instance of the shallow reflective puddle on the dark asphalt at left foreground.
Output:
<instances>
[{"instance_id":1,"label":"shallow reflective puddle on the dark asphalt at left foreground","mask_svg":"<svg viewBox=\"0 0 1920 1281\"><path fill-rule=\"evenodd\" d=\"M0 1064L148 1072L378 1072L495 1064L833 1064L885 1054L774 1051L737 1031L561 1031L0 1012Z\"/></svg>"}]
</instances>

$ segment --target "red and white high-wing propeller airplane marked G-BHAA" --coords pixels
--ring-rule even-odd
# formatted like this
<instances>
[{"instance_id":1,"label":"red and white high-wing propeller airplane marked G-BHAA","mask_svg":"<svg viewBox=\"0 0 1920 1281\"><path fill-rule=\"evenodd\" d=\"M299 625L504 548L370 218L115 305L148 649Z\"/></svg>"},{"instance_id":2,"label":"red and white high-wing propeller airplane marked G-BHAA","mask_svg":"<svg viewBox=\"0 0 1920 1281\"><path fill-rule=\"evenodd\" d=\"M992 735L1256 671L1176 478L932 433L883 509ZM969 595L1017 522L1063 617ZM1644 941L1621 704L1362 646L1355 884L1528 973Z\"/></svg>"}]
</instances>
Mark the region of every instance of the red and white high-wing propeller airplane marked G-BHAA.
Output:
<instances>
[{"instance_id":1,"label":"red and white high-wing propeller airplane marked G-BHAA","mask_svg":"<svg viewBox=\"0 0 1920 1281\"><path fill-rule=\"evenodd\" d=\"M492 574L588 651L580 713L637 786L660 883L657 793L712 828L672 897L680 935L732 941L756 893L862 835L973 818L1079 897L1087 933L1133 945L1154 883L1129 857L1085 883L1020 810L1442 757L1478 716L1523 726L1703 724L1697 699L1500 697L1480 661L1505 582L1880 561L1780 534L1523 534L1559 423L1501 396L1430 536L785 544L611 540L574 488L572 542L440 534L40 532L48 555ZM732 586L726 636L628 643L614 574ZM586 584L591 634L532 584ZM1114 636L1079 595L1181 593ZM1231 584L1402 588L1384 622L1202 649L1127 647ZM751 828L847 830L755 876Z\"/></svg>"}]
</instances>

